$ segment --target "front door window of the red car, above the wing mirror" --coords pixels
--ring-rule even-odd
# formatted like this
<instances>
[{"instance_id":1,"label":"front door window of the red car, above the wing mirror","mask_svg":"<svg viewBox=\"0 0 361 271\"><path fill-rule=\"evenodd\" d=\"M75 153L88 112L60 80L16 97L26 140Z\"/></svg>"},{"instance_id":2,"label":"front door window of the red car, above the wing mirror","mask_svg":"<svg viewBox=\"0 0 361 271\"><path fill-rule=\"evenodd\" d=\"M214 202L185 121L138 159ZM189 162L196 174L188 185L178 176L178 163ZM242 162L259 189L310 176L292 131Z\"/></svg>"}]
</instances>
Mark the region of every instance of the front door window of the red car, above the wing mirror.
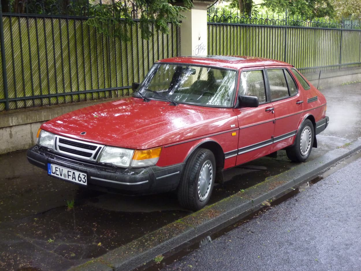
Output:
<instances>
[{"instance_id":1,"label":"front door window of the red car, above the wing mirror","mask_svg":"<svg viewBox=\"0 0 361 271\"><path fill-rule=\"evenodd\" d=\"M241 73L239 95L256 96L259 103L266 102L266 88L263 70L249 70Z\"/></svg>"}]
</instances>

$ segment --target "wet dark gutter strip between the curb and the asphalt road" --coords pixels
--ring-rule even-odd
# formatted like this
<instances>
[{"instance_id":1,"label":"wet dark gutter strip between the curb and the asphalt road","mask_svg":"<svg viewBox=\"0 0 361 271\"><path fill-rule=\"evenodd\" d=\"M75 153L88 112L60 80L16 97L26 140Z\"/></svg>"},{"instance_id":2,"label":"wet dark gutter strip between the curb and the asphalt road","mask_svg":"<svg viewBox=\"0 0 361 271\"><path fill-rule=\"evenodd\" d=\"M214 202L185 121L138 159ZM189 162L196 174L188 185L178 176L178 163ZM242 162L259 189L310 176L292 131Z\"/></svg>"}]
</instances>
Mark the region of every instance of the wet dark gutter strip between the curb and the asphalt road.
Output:
<instances>
[{"instance_id":1,"label":"wet dark gutter strip between the curb and the asphalt road","mask_svg":"<svg viewBox=\"0 0 361 271\"><path fill-rule=\"evenodd\" d=\"M332 173L338 171L339 169L345 167L347 164L352 163L353 161L361 158L361 151L356 152L348 158L345 158L338 163L332 165L330 168L326 169L324 172L321 173L321 175L318 175L316 177L309 178L308 180L305 180L302 184L300 184L297 188L286 190L280 197L275 199L272 202L267 202L264 206L260 207L258 210L248 214L247 216L242 217L236 217L232 219L232 221L229 221L227 223L228 225L225 225L225 227L221 227L218 231L211 231L204 233L201 236L198 236L194 239L192 239L189 242L184 243L181 247L178 247L177 249L170 250L164 255L159 255L157 258L159 262L156 262L157 259L154 260L154 262L149 262L144 264L142 267L135 268L133 271L158 271L164 268L165 266L173 263L174 261L177 261L184 256L191 253L193 250L199 249L201 246L207 245L212 240L215 240L216 238L225 235L227 232L232 231L232 229L235 229L244 223L247 223L249 220L261 215L262 213L268 211L270 208L273 208L274 206L279 205L280 203L287 201L287 199L292 198L294 195L298 194L300 190L305 189L313 184L316 184L317 182L323 180L327 176L330 176Z\"/></svg>"}]
</instances>

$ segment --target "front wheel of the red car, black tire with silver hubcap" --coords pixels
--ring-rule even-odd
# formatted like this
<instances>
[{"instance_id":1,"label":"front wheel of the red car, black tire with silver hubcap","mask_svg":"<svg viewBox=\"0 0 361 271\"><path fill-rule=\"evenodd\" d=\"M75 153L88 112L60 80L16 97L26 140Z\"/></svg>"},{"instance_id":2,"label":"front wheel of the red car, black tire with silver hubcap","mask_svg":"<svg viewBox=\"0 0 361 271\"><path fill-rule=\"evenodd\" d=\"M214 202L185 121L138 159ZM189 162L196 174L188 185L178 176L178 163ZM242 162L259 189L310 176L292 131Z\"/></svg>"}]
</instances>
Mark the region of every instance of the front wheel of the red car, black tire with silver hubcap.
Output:
<instances>
[{"instance_id":1,"label":"front wheel of the red car, black tire with silver hubcap","mask_svg":"<svg viewBox=\"0 0 361 271\"><path fill-rule=\"evenodd\" d=\"M196 149L184 167L178 186L178 202L197 211L209 201L216 176L216 159L208 149Z\"/></svg>"}]
</instances>

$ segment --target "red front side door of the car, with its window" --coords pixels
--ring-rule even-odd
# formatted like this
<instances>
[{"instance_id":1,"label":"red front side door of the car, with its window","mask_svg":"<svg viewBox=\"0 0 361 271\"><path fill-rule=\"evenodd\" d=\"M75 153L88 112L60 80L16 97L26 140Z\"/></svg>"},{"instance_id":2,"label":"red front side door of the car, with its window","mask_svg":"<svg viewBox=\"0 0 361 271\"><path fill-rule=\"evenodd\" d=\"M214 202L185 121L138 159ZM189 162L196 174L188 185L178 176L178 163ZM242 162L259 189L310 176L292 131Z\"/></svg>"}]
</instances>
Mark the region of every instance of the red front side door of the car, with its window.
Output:
<instances>
[{"instance_id":1,"label":"red front side door of the car, with its window","mask_svg":"<svg viewBox=\"0 0 361 271\"><path fill-rule=\"evenodd\" d=\"M238 94L257 96L256 108L235 108L239 139L236 164L242 164L271 153L274 132L273 106L268 102L264 69L247 69L240 73Z\"/></svg>"}]
</instances>

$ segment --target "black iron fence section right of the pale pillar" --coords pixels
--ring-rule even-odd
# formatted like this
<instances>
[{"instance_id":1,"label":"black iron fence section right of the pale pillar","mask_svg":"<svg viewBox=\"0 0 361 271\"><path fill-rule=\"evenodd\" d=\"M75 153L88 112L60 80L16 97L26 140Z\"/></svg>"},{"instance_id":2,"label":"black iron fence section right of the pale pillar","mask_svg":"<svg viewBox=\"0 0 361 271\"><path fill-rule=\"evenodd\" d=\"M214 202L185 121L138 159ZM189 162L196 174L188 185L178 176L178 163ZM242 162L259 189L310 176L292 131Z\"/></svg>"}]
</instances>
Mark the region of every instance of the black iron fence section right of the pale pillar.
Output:
<instances>
[{"instance_id":1,"label":"black iron fence section right of the pale pillar","mask_svg":"<svg viewBox=\"0 0 361 271\"><path fill-rule=\"evenodd\" d=\"M361 67L361 26L301 18L208 15L208 53L286 61L304 74Z\"/></svg>"}]
</instances>

